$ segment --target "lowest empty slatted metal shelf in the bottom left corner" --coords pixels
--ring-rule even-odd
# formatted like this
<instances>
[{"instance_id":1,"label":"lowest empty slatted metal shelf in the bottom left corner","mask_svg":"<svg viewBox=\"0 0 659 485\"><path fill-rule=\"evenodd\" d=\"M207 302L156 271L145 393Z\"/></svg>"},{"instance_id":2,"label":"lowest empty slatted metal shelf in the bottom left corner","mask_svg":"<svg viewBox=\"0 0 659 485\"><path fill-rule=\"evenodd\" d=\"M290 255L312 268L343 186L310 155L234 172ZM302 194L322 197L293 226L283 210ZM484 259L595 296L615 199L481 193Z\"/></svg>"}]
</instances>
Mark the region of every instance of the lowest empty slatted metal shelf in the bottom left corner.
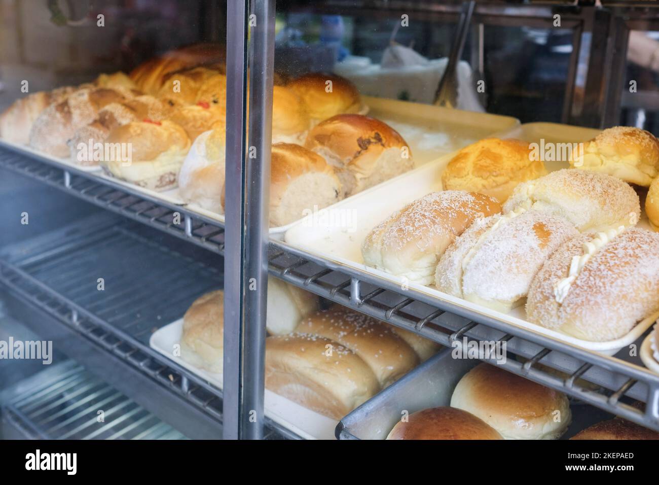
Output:
<instances>
[{"instance_id":1,"label":"lowest empty slatted metal shelf in the bottom left corner","mask_svg":"<svg viewBox=\"0 0 659 485\"><path fill-rule=\"evenodd\" d=\"M20 381L0 402L3 430L16 438L187 439L72 360Z\"/></svg>"}]
</instances>

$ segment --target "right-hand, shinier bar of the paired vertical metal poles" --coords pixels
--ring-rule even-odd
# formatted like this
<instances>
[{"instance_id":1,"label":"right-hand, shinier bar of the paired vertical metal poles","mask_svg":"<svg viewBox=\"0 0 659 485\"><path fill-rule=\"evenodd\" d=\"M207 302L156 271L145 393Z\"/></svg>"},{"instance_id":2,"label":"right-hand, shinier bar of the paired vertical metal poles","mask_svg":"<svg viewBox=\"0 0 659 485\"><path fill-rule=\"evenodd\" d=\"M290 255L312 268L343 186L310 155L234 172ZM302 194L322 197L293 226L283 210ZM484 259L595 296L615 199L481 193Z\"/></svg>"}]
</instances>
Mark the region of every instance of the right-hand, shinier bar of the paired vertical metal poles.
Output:
<instances>
[{"instance_id":1,"label":"right-hand, shinier bar of the paired vertical metal poles","mask_svg":"<svg viewBox=\"0 0 659 485\"><path fill-rule=\"evenodd\" d=\"M243 434L263 437L275 0L252 0L247 151Z\"/></svg>"}]
</instances>

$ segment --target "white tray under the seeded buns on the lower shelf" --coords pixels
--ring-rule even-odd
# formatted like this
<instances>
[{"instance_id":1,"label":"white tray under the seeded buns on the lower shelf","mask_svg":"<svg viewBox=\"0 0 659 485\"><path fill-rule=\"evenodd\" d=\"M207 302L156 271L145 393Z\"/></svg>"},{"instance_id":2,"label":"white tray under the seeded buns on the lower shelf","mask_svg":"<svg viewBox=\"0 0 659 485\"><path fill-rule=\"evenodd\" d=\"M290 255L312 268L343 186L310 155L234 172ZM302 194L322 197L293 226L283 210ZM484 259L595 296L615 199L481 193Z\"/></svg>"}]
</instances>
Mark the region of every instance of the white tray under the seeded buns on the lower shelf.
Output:
<instances>
[{"instance_id":1,"label":"white tray under the seeded buns on the lower shelf","mask_svg":"<svg viewBox=\"0 0 659 485\"><path fill-rule=\"evenodd\" d=\"M165 325L154 332L149 339L149 346L222 389L221 374L196 368L181 357L174 355L173 350L175 346L179 346L181 335L183 335L183 319L169 323L169 325ZM293 403L293 401L289 401L268 389L265 391L264 401L266 416L298 436L304 439L335 439L336 420L318 414L318 412L309 410L300 404Z\"/></svg>"}]
</instances>

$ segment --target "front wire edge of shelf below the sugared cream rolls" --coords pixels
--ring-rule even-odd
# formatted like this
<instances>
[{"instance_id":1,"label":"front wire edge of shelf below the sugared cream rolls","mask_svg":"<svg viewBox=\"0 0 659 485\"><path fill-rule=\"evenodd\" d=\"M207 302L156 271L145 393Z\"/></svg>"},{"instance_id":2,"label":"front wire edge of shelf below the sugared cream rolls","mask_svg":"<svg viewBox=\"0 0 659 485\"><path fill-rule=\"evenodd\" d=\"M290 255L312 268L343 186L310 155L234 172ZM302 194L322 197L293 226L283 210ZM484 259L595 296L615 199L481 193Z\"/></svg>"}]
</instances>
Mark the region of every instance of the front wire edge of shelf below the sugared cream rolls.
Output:
<instances>
[{"instance_id":1,"label":"front wire edge of shelf below the sugared cream rolls","mask_svg":"<svg viewBox=\"0 0 659 485\"><path fill-rule=\"evenodd\" d=\"M639 365L627 362L624 349L616 358L579 348L286 243L271 242L268 261L277 278L444 346L478 348L483 340L505 342L501 365L509 372L659 430L659 375L642 368L639 360ZM641 339L636 346L640 348ZM625 403L627 398L648 403L646 411Z\"/></svg>"}]
</instances>

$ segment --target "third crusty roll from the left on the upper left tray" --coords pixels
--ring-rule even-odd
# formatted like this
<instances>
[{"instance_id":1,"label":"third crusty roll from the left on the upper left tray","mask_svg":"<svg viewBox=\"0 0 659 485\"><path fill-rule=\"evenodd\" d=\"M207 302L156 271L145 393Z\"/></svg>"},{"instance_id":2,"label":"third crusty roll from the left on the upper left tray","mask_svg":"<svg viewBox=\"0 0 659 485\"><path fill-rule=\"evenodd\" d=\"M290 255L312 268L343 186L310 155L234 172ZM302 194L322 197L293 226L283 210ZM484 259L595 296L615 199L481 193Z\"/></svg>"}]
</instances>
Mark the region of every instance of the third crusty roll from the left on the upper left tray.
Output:
<instances>
[{"instance_id":1,"label":"third crusty roll from the left on the upper left tray","mask_svg":"<svg viewBox=\"0 0 659 485\"><path fill-rule=\"evenodd\" d=\"M80 165L98 165L100 158L94 156L97 143L105 143L107 135L118 126L131 121L152 119L162 121L169 113L169 106L147 94L123 103L110 103L98 112L98 117L89 125L78 130L67 142L71 160ZM82 145L81 145L82 144ZM90 146L92 150L90 150Z\"/></svg>"}]
</instances>

